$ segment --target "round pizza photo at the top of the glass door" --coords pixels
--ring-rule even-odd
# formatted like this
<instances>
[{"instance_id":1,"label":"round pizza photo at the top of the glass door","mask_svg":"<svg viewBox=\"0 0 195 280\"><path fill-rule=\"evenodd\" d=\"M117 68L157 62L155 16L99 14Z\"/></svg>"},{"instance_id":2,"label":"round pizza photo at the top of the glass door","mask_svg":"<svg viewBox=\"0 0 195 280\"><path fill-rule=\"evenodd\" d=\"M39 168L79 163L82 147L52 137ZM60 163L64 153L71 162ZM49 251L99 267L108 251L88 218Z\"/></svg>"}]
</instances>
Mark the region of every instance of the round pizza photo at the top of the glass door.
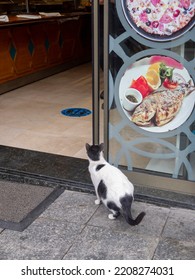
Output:
<instances>
[{"instance_id":1,"label":"round pizza photo at the top of the glass door","mask_svg":"<svg viewBox=\"0 0 195 280\"><path fill-rule=\"evenodd\" d=\"M122 6L131 27L151 40L178 38L195 22L194 0L122 0Z\"/></svg>"}]
</instances>

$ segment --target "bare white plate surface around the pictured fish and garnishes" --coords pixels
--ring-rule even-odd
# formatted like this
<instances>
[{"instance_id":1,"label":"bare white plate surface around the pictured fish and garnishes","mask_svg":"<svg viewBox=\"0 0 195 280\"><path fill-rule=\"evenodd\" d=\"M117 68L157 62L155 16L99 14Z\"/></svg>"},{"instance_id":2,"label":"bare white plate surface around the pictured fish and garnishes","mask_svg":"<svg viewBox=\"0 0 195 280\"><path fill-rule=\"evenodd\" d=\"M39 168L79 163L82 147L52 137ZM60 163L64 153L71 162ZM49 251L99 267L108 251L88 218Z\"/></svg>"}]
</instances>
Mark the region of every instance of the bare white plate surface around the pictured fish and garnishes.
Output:
<instances>
[{"instance_id":1,"label":"bare white plate surface around the pictured fish and garnishes","mask_svg":"<svg viewBox=\"0 0 195 280\"><path fill-rule=\"evenodd\" d=\"M125 113L125 115L127 116L127 118L129 119L129 121L131 121L131 113L127 112L124 108L123 108L123 98L124 98L124 94L127 90L127 88L131 85L131 82L133 79L138 79L140 76L144 76L147 72L148 67L150 66L150 64L145 65L145 62L148 62L148 58L147 59L143 59L140 60L139 62L135 63L134 65L132 65L131 68L129 68L123 75L123 77L121 78L120 81L120 85L119 85L119 100L120 100L120 104L121 107ZM144 65L142 65L144 63ZM182 77L185 79L186 82L188 82L189 80L192 80L188 71L183 68L181 69L174 69L173 70L173 77L174 74L178 73L180 75L182 75ZM158 91L158 90L157 90ZM157 92L155 91L155 92ZM152 127L143 127L140 126L140 128L150 131L150 132L167 132L167 131L171 131L176 129L177 127L179 127L180 125L182 125L190 116L190 114L192 113L192 110L194 108L194 103L195 103L195 90L189 94L188 96L184 97L183 99L183 103L182 106L179 110L179 112L177 113L177 115L174 117L174 119L172 121L170 121L169 123L161 126L161 127L157 127L157 126L152 126Z\"/></svg>"}]
</instances>

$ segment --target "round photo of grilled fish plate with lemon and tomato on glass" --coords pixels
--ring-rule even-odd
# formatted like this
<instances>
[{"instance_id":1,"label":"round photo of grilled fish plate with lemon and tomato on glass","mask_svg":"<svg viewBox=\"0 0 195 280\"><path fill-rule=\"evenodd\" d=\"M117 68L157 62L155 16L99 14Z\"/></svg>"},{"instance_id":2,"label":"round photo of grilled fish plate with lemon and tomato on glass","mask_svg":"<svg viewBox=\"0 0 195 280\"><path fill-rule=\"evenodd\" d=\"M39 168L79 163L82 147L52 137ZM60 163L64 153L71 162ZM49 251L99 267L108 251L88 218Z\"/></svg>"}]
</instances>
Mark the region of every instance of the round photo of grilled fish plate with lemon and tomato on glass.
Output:
<instances>
[{"instance_id":1,"label":"round photo of grilled fish plate with lemon and tomato on glass","mask_svg":"<svg viewBox=\"0 0 195 280\"><path fill-rule=\"evenodd\" d=\"M140 59L119 84L120 105L130 122L150 132L182 125L195 104L194 81L184 66L167 56Z\"/></svg>"}]
</instances>

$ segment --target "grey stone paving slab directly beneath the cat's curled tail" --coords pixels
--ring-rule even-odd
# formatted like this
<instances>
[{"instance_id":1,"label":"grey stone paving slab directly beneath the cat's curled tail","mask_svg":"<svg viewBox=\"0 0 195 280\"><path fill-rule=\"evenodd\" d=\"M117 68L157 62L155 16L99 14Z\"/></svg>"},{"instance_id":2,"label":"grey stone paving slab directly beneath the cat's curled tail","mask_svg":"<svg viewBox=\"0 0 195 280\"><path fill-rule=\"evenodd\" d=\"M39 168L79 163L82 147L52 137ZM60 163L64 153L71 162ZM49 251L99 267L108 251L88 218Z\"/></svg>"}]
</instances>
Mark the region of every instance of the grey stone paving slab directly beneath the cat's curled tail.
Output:
<instances>
[{"instance_id":1,"label":"grey stone paving slab directly beneath the cat's curled tail","mask_svg":"<svg viewBox=\"0 0 195 280\"><path fill-rule=\"evenodd\" d=\"M133 227L122 216L119 216L116 220L108 219L109 211L104 205L101 205L88 224L135 235L160 236L170 210L142 202L134 202L132 206L133 217L136 217L141 211L145 211L146 215L138 226Z\"/></svg>"}]
</instances>

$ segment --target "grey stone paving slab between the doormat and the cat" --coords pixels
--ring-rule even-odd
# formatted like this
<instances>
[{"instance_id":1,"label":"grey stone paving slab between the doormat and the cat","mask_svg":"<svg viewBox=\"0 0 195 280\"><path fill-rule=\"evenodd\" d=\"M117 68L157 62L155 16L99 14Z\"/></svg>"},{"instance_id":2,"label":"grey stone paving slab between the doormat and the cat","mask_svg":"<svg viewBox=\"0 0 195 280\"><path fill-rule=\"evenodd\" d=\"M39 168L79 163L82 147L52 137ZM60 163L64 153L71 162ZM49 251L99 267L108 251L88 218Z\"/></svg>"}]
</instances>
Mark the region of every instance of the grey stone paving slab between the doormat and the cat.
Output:
<instances>
[{"instance_id":1,"label":"grey stone paving slab between the doormat and the cat","mask_svg":"<svg viewBox=\"0 0 195 280\"><path fill-rule=\"evenodd\" d=\"M41 217L85 224L98 208L94 200L91 194L65 191Z\"/></svg>"}]
</instances>

